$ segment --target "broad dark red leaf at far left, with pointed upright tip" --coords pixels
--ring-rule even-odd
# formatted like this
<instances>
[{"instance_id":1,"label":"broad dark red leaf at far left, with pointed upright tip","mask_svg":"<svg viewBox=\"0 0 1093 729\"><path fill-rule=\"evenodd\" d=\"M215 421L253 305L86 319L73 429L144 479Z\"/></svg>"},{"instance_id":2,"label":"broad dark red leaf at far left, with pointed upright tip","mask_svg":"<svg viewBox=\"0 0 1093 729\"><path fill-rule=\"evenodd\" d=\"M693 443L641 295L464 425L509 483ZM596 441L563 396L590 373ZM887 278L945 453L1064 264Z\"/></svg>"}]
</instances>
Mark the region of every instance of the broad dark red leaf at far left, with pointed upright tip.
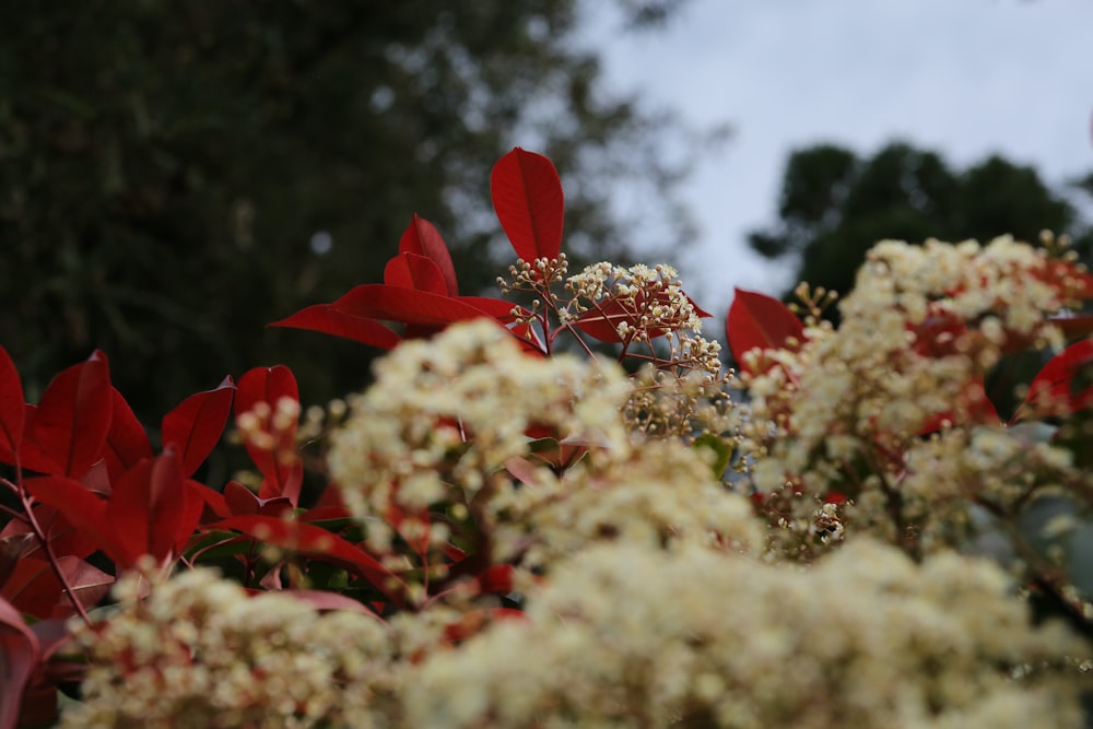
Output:
<instances>
[{"instance_id":1,"label":"broad dark red leaf at far left, with pointed upright tip","mask_svg":"<svg viewBox=\"0 0 1093 729\"><path fill-rule=\"evenodd\" d=\"M33 412L31 442L21 451L32 471L79 479L103 457L114 393L106 356L62 371L49 383Z\"/></svg>"}]
</instances>

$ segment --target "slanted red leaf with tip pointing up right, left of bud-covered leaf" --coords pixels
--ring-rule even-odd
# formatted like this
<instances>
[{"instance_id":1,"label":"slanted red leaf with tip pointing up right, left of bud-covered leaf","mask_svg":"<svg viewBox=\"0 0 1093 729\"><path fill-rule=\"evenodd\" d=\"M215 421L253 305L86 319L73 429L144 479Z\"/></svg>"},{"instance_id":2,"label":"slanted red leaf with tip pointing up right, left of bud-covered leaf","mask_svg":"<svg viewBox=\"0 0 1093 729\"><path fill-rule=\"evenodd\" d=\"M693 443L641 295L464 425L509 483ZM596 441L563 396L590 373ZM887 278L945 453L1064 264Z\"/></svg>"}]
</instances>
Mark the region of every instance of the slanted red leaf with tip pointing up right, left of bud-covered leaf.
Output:
<instances>
[{"instance_id":1,"label":"slanted red leaf with tip pointing up right, left of bud-covered leaf","mask_svg":"<svg viewBox=\"0 0 1093 729\"><path fill-rule=\"evenodd\" d=\"M163 416L163 447L175 447L184 477L193 475L220 443L234 392L235 384L225 377L216 389L191 395Z\"/></svg>"}]
</instances>

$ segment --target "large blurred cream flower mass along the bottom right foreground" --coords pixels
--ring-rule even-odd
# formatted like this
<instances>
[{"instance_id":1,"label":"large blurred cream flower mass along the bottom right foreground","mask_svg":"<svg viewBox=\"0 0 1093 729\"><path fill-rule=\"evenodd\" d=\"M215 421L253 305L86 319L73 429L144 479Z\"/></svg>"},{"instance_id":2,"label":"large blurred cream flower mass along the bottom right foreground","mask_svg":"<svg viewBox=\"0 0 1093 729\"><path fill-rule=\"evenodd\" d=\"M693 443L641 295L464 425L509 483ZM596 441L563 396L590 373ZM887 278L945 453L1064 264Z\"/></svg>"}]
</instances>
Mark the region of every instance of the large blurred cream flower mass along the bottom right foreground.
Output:
<instances>
[{"instance_id":1,"label":"large blurred cream flower mass along the bottom right foreground","mask_svg":"<svg viewBox=\"0 0 1093 729\"><path fill-rule=\"evenodd\" d=\"M868 540L799 569L708 550L596 548L529 621L428 658L415 727L1082 726L1051 675L1068 636L1033 630L987 562L916 566ZM1016 677L1021 678L1016 678Z\"/></svg>"}]
</instances>

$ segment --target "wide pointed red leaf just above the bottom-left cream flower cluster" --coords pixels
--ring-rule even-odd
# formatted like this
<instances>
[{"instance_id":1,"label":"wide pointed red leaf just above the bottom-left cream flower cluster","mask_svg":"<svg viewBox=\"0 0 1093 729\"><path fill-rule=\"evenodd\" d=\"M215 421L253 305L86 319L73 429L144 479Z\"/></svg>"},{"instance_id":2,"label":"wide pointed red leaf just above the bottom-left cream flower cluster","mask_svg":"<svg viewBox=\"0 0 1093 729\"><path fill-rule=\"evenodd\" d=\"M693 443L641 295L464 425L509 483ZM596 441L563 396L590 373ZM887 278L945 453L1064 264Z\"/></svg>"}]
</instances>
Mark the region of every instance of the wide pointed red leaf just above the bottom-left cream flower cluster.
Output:
<instances>
[{"instance_id":1,"label":"wide pointed red leaf just above the bottom-left cream flower cluster","mask_svg":"<svg viewBox=\"0 0 1093 729\"><path fill-rule=\"evenodd\" d=\"M130 469L114 486L106 518L126 557L120 566L130 567L144 554L162 562L193 533L201 513L195 516L188 507L183 479L180 458L168 447Z\"/></svg>"}]
</instances>

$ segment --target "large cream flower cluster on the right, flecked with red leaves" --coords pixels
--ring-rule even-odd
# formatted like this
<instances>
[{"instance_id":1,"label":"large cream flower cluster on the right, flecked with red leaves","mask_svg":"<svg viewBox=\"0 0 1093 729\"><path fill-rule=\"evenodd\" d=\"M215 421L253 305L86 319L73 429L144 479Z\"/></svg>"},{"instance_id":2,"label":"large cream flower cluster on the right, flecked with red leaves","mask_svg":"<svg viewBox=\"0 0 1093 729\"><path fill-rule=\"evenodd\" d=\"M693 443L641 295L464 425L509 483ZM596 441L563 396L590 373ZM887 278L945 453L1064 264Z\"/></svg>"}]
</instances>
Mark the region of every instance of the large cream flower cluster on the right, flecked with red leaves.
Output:
<instances>
[{"instance_id":1,"label":"large cream flower cluster on the right, flecked with red leaves","mask_svg":"<svg viewBox=\"0 0 1093 729\"><path fill-rule=\"evenodd\" d=\"M1073 304L1072 286L1056 280L1051 260L1009 237L881 242L841 304L838 329L811 320L800 348L753 353L763 366L742 380L754 482L810 496L787 508L784 525L807 534L815 499L837 493L860 527L912 551L951 543L944 534L966 520L969 501L992 497L1002 480L991 473L1010 468L989 456L973 465L962 450L968 434L952 431L1004 440L985 373L1008 349L1061 344L1049 317ZM1033 455L1058 461L1049 451Z\"/></svg>"}]
</instances>

